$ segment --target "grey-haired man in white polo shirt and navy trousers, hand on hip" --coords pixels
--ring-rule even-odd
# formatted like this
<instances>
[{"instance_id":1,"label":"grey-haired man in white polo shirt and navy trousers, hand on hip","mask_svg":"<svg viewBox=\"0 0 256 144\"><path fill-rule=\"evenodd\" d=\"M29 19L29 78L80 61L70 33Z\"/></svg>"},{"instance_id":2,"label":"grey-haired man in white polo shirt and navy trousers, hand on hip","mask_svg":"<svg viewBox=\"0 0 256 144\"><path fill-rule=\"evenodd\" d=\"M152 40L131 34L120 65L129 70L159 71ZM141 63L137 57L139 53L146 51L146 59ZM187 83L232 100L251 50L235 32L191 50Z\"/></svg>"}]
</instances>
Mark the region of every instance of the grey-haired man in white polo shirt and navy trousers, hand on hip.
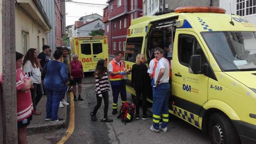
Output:
<instances>
[{"instance_id":1,"label":"grey-haired man in white polo shirt and navy trousers, hand on hip","mask_svg":"<svg viewBox=\"0 0 256 144\"><path fill-rule=\"evenodd\" d=\"M169 120L168 100L170 95L169 72L170 64L163 57L163 49L154 49L154 55L157 59L157 67L155 70L153 86L153 125L150 127L151 131L159 132L160 129L167 132L167 124ZM163 123L159 126L160 115L162 114Z\"/></svg>"}]
</instances>

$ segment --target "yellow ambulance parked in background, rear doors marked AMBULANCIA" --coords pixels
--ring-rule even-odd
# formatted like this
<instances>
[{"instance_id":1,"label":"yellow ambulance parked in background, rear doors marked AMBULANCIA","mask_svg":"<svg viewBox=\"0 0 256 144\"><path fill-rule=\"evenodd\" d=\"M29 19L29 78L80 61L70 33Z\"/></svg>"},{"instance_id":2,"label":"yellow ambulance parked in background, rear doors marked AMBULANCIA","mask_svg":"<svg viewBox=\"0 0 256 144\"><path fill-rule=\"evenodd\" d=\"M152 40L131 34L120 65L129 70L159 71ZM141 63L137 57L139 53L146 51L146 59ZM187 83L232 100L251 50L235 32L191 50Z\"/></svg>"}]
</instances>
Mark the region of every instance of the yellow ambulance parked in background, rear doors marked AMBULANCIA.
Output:
<instances>
[{"instance_id":1,"label":"yellow ambulance parked in background, rear doors marked AMBULANCIA","mask_svg":"<svg viewBox=\"0 0 256 144\"><path fill-rule=\"evenodd\" d=\"M108 63L107 41L107 36L74 37L70 39L71 56L78 55L84 72L94 71L100 59L105 59Z\"/></svg>"}]
</instances>

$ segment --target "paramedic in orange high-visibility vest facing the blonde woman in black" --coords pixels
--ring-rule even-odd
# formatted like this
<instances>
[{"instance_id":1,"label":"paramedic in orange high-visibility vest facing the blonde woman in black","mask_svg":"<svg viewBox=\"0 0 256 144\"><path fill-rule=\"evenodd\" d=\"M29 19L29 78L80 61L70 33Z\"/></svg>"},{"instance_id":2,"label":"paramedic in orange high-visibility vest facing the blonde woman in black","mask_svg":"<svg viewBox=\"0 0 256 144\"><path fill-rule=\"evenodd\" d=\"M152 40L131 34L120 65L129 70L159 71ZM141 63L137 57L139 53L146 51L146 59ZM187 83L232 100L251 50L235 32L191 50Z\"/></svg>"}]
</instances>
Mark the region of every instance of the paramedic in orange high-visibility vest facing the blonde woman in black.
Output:
<instances>
[{"instance_id":1,"label":"paramedic in orange high-visibility vest facing the blonde woman in black","mask_svg":"<svg viewBox=\"0 0 256 144\"><path fill-rule=\"evenodd\" d=\"M118 51L115 54L115 58L109 62L109 78L113 95L113 115L117 113L117 102L119 93L121 95L122 104L126 102L126 87L124 79L124 74L126 70L124 67L124 63L121 61L123 59L123 56L124 55L122 54L122 52Z\"/></svg>"}]
</instances>

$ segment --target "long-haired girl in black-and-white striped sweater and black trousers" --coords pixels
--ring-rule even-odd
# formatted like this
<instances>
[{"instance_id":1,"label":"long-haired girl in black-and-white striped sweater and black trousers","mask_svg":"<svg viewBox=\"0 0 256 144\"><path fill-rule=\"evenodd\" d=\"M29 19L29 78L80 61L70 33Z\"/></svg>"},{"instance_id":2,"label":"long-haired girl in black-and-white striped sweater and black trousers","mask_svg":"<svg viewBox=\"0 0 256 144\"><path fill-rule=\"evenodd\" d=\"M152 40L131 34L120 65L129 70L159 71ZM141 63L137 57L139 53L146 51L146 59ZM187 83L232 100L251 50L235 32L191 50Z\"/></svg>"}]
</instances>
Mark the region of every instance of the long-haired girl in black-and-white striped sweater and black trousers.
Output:
<instances>
[{"instance_id":1,"label":"long-haired girl in black-and-white striped sweater and black trousers","mask_svg":"<svg viewBox=\"0 0 256 144\"><path fill-rule=\"evenodd\" d=\"M102 98L104 100L104 118L101 122L113 122L113 120L108 119L108 109L109 109L109 79L107 73L107 63L105 60L99 60L94 72L95 75L95 93L97 98L97 105L95 106L93 112L91 113L92 120L96 121L96 113L101 106Z\"/></svg>"}]
</instances>

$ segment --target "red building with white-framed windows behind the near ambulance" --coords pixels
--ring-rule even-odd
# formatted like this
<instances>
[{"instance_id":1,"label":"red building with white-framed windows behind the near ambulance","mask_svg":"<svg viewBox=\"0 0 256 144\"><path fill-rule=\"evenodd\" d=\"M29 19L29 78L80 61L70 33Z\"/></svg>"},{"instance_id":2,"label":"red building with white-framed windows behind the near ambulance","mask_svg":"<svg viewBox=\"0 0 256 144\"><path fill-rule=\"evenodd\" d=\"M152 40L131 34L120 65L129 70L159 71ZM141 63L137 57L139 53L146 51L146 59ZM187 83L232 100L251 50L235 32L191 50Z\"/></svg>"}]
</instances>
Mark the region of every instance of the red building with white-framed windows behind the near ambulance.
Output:
<instances>
[{"instance_id":1,"label":"red building with white-framed windows behind the near ambulance","mask_svg":"<svg viewBox=\"0 0 256 144\"><path fill-rule=\"evenodd\" d=\"M115 55L117 51L125 51L131 19L142 16L142 0L108 0L106 3L109 6L104 8L102 22L108 36L109 54Z\"/></svg>"}]
</instances>

